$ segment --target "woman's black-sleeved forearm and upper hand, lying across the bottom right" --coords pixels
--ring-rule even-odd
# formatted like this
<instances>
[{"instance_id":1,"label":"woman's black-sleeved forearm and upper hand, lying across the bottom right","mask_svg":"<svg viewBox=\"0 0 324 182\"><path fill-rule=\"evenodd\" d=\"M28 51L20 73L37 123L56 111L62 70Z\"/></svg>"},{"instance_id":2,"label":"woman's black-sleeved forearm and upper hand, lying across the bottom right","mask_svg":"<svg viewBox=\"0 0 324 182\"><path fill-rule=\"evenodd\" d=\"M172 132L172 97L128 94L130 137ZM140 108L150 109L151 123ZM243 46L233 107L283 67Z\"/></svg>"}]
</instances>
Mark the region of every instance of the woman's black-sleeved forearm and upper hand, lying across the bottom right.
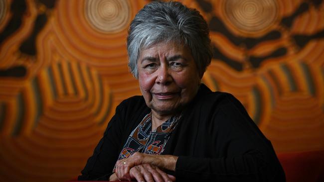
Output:
<instances>
[{"instance_id":1,"label":"woman's black-sleeved forearm and upper hand, lying across the bottom right","mask_svg":"<svg viewBox=\"0 0 324 182\"><path fill-rule=\"evenodd\" d=\"M271 182L278 179L285 180L280 164L277 164L278 168L276 168L276 161L269 164L258 151L219 159L135 153L133 156L117 162L116 176L121 180L131 180L134 176L144 176L140 171L132 171L142 164L150 164L162 170L174 171L175 177L193 181ZM149 167L151 168L151 166Z\"/></svg>"}]
</instances>

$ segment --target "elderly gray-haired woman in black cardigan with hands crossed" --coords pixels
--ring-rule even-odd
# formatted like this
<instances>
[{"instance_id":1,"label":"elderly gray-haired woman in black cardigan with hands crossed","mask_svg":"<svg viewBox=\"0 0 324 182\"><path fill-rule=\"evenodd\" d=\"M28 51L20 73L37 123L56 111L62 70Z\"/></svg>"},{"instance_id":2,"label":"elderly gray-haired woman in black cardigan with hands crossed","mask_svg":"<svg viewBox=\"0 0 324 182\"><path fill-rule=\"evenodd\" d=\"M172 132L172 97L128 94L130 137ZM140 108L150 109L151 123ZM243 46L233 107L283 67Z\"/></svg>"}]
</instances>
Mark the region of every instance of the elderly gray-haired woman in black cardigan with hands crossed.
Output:
<instances>
[{"instance_id":1,"label":"elderly gray-haired woman in black cardigan with hands crossed","mask_svg":"<svg viewBox=\"0 0 324 182\"><path fill-rule=\"evenodd\" d=\"M116 108L79 180L285 181L242 104L201 84L212 52L197 10L147 4L131 23L127 48L143 96Z\"/></svg>"}]
</instances>

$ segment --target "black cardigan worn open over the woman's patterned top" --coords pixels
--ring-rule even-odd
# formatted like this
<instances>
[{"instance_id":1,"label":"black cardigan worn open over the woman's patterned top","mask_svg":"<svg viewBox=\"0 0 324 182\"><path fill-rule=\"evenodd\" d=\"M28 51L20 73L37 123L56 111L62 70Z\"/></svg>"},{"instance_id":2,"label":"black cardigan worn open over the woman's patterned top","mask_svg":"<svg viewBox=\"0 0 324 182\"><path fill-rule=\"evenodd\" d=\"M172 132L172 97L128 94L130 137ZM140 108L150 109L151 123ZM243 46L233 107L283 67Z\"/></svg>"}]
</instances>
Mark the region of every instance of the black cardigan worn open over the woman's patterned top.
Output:
<instances>
[{"instance_id":1,"label":"black cardigan worn open over the woman's patterned top","mask_svg":"<svg viewBox=\"0 0 324 182\"><path fill-rule=\"evenodd\" d=\"M143 96L116 108L79 180L108 180L128 136L151 111ZM271 142L231 94L201 84L161 155L179 156L176 181L284 182Z\"/></svg>"}]
</instances>

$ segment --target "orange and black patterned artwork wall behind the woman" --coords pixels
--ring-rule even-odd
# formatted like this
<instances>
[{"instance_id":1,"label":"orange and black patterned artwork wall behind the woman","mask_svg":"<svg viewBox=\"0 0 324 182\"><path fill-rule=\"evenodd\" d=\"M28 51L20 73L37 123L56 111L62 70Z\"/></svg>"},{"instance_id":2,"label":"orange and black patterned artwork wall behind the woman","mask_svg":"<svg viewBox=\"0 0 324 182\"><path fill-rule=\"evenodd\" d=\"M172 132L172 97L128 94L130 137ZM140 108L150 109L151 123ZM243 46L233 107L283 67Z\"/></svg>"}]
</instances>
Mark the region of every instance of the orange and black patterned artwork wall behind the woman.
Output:
<instances>
[{"instance_id":1,"label":"orange and black patterned artwork wall behind the woman","mask_svg":"<svg viewBox=\"0 0 324 182\"><path fill-rule=\"evenodd\" d=\"M0 181L76 177L121 100L145 0L0 0ZM277 152L324 150L323 0L182 0L211 29L203 82L233 93Z\"/></svg>"}]
</instances>

